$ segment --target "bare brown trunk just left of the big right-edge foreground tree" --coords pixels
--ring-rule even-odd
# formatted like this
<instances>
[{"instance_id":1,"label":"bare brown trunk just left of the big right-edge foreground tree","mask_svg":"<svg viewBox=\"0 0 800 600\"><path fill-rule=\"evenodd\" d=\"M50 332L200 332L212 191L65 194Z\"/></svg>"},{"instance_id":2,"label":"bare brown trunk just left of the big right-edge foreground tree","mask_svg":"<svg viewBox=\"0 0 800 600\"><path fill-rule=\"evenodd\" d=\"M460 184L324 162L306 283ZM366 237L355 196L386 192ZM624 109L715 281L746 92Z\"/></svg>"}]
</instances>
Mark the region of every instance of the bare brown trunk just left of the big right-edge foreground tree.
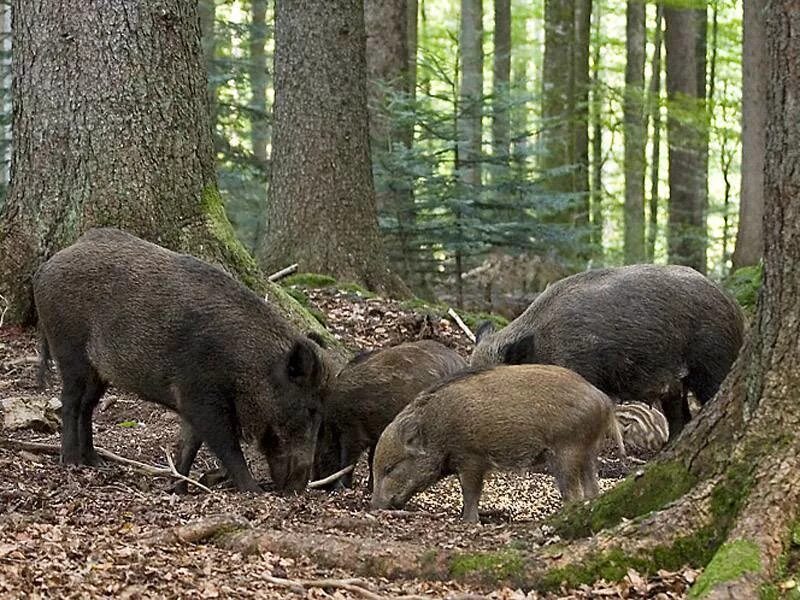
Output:
<instances>
[{"instance_id":1,"label":"bare brown trunk just left of the big right-edge foreground tree","mask_svg":"<svg viewBox=\"0 0 800 600\"><path fill-rule=\"evenodd\" d=\"M742 52L742 191L739 230L733 252L733 268L758 264L762 254L764 213L764 151L767 107L764 3L744 0L744 48Z\"/></svg>"}]
</instances>

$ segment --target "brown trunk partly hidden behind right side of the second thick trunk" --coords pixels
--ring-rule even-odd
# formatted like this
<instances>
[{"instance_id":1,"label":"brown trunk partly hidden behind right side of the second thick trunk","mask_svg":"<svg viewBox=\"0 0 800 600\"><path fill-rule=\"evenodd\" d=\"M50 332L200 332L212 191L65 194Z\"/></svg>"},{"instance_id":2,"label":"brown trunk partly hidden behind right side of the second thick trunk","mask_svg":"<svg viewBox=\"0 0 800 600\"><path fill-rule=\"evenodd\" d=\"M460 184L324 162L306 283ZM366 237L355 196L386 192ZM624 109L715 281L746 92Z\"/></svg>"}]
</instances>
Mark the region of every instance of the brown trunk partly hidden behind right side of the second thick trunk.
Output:
<instances>
[{"instance_id":1,"label":"brown trunk partly hidden behind right side of the second thick trunk","mask_svg":"<svg viewBox=\"0 0 800 600\"><path fill-rule=\"evenodd\" d=\"M384 242L393 267L406 280L413 271L414 197L410 177L399 165L414 130L413 121L398 119L392 105L402 104L409 91L408 11L406 0L364 1L372 161L385 175L376 185L377 206L392 221Z\"/></svg>"}]
</instances>

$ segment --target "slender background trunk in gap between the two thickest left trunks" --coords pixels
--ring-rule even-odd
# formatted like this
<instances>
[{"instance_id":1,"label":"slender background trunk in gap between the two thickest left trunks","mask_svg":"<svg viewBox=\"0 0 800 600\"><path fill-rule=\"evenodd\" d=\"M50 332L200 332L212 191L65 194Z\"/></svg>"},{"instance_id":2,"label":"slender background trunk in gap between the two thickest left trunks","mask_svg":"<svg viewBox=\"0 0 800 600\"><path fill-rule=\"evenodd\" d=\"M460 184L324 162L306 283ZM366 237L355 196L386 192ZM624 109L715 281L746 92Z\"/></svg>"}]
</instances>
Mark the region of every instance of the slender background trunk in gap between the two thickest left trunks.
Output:
<instances>
[{"instance_id":1,"label":"slender background trunk in gap between the two thickest left trunks","mask_svg":"<svg viewBox=\"0 0 800 600\"><path fill-rule=\"evenodd\" d=\"M267 0L250 2L250 139L253 158L266 173L269 162L269 118L267 114Z\"/></svg>"}]
</instances>

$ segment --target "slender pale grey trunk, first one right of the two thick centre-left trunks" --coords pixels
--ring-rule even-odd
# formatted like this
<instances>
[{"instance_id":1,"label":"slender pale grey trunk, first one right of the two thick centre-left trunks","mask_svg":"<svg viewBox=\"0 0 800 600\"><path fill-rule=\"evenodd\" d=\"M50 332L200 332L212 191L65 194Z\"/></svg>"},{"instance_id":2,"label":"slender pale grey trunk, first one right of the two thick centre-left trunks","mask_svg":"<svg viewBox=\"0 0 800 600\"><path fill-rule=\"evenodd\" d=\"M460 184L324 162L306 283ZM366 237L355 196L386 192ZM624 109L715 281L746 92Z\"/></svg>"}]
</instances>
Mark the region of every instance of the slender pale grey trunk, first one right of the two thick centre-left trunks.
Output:
<instances>
[{"instance_id":1,"label":"slender pale grey trunk, first one right of the two thick centre-left trunks","mask_svg":"<svg viewBox=\"0 0 800 600\"><path fill-rule=\"evenodd\" d=\"M459 51L458 171L464 193L474 197L481 185L483 0L461 0Z\"/></svg>"}]
</instances>

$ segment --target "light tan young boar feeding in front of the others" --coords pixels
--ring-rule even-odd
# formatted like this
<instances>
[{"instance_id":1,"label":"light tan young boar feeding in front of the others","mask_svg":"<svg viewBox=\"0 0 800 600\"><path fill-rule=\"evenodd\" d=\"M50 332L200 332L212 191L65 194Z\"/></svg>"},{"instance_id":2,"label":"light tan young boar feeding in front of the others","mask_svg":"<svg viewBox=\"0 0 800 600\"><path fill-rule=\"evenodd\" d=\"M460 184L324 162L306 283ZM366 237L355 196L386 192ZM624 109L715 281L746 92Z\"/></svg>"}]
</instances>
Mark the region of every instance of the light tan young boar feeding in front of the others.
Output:
<instances>
[{"instance_id":1,"label":"light tan young boar feeding in front of the others","mask_svg":"<svg viewBox=\"0 0 800 600\"><path fill-rule=\"evenodd\" d=\"M552 365L464 372L422 392L375 449L374 508L402 508L412 495L457 474L462 517L478 521L492 469L530 468L547 458L565 502L597 495L596 458L607 435L625 449L614 406L583 377Z\"/></svg>"}]
</instances>

